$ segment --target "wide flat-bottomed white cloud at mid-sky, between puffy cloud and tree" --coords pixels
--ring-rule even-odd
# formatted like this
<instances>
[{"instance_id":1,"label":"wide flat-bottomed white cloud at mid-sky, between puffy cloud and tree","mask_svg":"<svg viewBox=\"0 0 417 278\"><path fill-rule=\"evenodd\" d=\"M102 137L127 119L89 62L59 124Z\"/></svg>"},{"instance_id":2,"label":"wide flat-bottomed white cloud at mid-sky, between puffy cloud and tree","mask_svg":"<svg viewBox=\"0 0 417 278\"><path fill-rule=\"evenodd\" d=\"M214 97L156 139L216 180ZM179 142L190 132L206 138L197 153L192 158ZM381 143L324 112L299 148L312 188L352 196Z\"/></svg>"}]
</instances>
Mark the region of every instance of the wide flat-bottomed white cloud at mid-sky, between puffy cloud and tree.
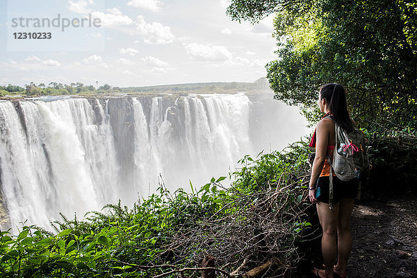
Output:
<instances>
[{"instance_id":1,"label":"wide flat-bottomed white cloud at mid-sky, between puffy cloud and tree","mask_svg":"<svg viewBox=\"0 0 417 278\"><path fill-rule=\"evenodd\" d=\"M225 61L231 60L232 55L224 46L207 46L203 44L186 44L185 49L191 57L197 60Z\"/></svg>"}]
</instances>

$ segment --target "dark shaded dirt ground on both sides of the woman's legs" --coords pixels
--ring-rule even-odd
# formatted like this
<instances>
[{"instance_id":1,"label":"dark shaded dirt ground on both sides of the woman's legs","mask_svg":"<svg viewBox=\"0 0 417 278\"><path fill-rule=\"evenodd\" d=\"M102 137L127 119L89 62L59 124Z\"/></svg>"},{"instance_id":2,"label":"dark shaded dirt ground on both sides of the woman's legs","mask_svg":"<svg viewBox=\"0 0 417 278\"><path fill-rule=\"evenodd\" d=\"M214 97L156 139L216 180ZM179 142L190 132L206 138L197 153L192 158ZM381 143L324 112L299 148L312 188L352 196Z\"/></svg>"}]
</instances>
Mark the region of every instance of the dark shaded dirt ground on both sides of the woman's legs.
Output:
<instances>
[{"instance_id":1,"label":"dark shaded dirt ground on both sides of the woman's legs","mask_svg":"<svg viewBox=\"0 0 417 278\"><path fill-rule=\"evenodd\" d=\"M350 278L417 278L417 195L368 193L355 201L352 211L352 252L347 264ZM322 269L319 237L311 245L298 277ZM316 252L317 251L317 252ZM297 277L295 275L294 277Z\"/></svg>"}]
</instances>

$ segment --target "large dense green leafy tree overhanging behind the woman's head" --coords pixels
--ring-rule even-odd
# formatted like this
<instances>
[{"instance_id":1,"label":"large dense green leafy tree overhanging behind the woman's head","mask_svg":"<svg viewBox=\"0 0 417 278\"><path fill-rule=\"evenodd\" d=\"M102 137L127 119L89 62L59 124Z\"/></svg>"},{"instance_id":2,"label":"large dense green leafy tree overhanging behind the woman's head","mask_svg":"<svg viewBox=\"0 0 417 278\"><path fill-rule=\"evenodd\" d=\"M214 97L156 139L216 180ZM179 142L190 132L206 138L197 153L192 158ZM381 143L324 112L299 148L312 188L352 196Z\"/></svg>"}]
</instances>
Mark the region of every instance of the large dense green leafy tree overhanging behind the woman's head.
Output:
<instances>
[{"instance_id":1,"label":"large dense green leafy tree overhanging behind the woman's head","mask_svg":"<svg viewBox=\"0 0 417 278\"><path fill-rule=\"evenodd\" d=\"M318 87L347 87L359 122L417 126L417 3L411 0L232 0L252 23L277 12L278 59L267 64L275 98L316 121ZM388 121L387 121L388 120Z\"/></svg>"}]
</instances>

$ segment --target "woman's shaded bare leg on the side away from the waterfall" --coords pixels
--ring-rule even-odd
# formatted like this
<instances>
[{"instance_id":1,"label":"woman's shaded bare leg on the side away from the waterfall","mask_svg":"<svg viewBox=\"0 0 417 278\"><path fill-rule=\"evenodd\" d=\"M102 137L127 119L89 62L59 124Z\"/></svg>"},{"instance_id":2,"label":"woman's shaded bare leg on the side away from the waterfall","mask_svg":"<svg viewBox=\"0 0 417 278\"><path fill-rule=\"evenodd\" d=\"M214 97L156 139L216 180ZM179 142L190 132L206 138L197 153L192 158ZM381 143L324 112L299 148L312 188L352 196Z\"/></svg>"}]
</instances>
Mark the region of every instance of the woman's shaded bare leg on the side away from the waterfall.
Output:
<instances>
[{"instance_id":1,"label":"woman's shaded bare leg on the side away from the waterfall","mask_svg":"<svg viewBox=\"0 0 417 278\"><path fill-rule=\"evenodd\" d=\"M343 198L339 205L338 211L338 261L334 270L341 275L346 276L347 259L349 259L350 250L352 250L352 235L350 234L350 218L352 216L353 199Z\"/></svg>"}]
</instances>

